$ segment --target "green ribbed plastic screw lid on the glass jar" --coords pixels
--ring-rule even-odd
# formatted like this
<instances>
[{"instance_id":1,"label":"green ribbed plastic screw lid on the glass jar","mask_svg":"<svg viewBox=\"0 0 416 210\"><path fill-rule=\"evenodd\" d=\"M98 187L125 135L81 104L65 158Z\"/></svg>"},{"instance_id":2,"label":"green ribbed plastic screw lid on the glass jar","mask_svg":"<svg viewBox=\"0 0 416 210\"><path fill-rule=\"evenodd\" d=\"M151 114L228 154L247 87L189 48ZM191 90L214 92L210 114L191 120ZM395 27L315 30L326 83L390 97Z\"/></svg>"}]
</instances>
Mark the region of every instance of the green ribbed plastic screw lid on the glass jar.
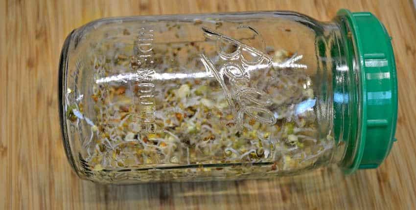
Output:
<instances>
[{"instance_id":1,"label":"green ribbed plastic screw lid on the glass jar","mask_svg":"<svg viewBox=\"0 0 416 210\"><path fill-rule=\"evenodd\" d=\"M344 166L349 174L356 169L377 168L396 141L397 76L392 38L384 25L369 12L341 9L337 16L349 25L360 81L358 142L352 162Z\"/></svg>"}]
</instances>

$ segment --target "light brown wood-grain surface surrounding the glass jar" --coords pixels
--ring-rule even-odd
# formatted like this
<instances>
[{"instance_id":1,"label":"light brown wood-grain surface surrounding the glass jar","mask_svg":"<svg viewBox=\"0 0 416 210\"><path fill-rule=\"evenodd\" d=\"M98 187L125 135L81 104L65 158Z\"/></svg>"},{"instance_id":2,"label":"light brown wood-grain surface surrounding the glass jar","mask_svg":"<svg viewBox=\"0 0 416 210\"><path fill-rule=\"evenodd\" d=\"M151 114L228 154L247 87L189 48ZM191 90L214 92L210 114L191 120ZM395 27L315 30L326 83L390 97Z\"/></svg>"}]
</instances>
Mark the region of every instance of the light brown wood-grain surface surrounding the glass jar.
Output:
<instances>
[{"instance_id":1,"label":"light brown wood-grain surface surrounding the glass jar","mask_svg":"<svg viewBox=\"0 0 416 210\"><path fill-rule=\"evenodd\" d=\"M101 17L293 10L330 20L370 11L393 37L399 115L393 150L376 170L338 169L239 182L102 186L81 181L64 154L57 76L69 32ZM416 209L416 15L411 0L0 0L0 208Z\"/></svg>"}]
</instances>

